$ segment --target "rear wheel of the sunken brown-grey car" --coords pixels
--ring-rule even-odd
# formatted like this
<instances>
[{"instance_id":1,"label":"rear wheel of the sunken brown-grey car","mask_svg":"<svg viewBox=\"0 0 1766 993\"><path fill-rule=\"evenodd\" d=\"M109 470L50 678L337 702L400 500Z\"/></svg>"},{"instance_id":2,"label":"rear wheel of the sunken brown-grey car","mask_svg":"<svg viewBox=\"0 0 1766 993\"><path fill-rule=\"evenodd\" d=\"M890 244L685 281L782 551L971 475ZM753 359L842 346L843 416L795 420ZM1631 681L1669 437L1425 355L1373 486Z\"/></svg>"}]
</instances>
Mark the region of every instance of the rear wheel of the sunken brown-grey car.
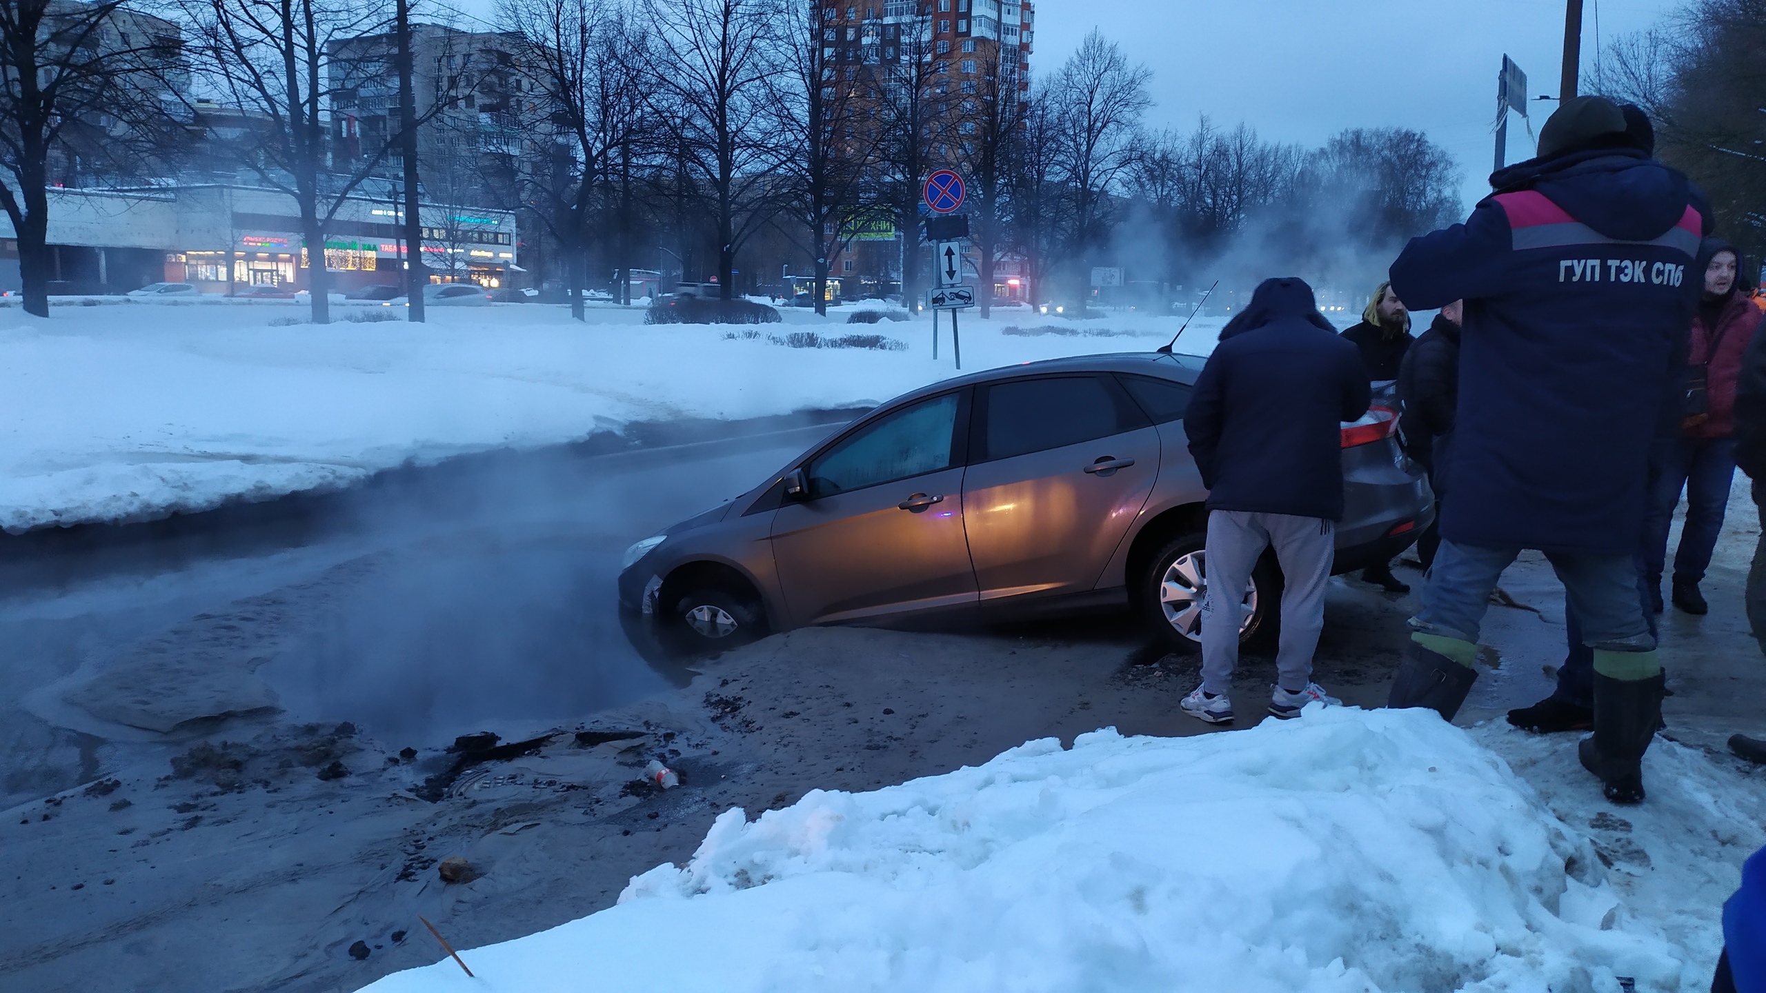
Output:
<instances>
[{"instance_id":1,"label":"rear wheel of the sunken brown-grey car","mask_svg":"<svg viewBox=\"0 0 1766 993\"><path fill-rule=\"evenodd\" d=\"M1208 553L1204 532L1190 532L1166 542L1141 576L1137 606L1153 631L1180 650L1201 648L1203 599L1208 594ZM1261 652L1277 643L1282 604L1282 571L1272 555L1257 560L1240 610L1238 643L1241 650Z\"/></svg>"}]
</instances>

